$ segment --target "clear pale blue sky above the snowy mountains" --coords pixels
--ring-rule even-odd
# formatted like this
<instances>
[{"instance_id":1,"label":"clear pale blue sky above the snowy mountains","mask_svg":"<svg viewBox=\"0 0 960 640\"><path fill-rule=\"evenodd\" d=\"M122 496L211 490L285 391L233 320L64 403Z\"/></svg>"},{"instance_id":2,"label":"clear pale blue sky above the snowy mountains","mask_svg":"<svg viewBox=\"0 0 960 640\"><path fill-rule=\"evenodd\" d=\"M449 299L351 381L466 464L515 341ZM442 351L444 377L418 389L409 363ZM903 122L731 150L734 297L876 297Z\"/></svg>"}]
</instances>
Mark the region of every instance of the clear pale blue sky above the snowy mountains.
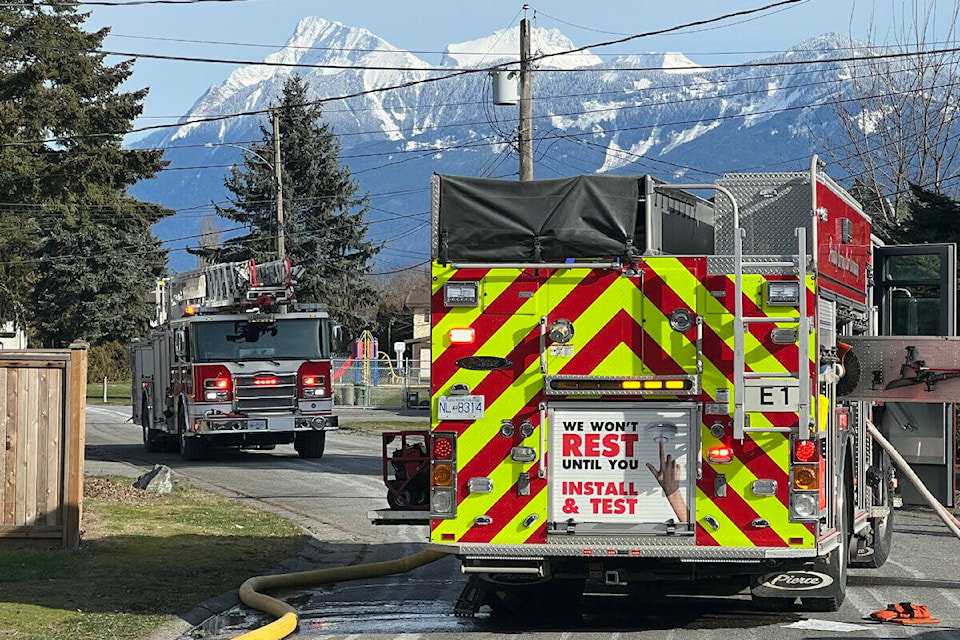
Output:
<instances>
[{"instance_id":1,"label":"clear pale blue sky above the snowy mountains","mask_svg":"<svg viewBox=\"0 0 960 640\"><path fill-rule=\"evenodd\" d=\"M774 0L550 0L530 3L536 26L559 28L578 46L616 39L734 11L771 4ZM902 13L913 0L807 0L768 15L737 18L678 35L634 40L593 53L623 54L681 51L705 64L736 62L782 51L827 31L854 37L871 34L875 42L894 42L892 29L907 21ZM928 2L919 2L926 6ZM945 12L954 2L934 3ZM300 18L322 16L349 26L365 27L401 49L438 62L448 43L487 36L515 24L523 3L506 0L239 0L183 5L93 7L88 29L112 28L106 48L233 60L262 60L280 48ZM760 15L761 17L755 17ZM947 20L941 19L941 23ZM940 25L944 27L944 25ZM944 27L945 28L945 27ZM938 27L938 31L942 31ZM161 40L164 39L164 40ZM176 40L253 43L271 47L199 44ZM903 41L901 39L901 41ZM210 86L220 84L237 65L141 59L125 88L150 87L144 118L138 124L159 124L184 114Z\"/></svg>"}]
</instances>

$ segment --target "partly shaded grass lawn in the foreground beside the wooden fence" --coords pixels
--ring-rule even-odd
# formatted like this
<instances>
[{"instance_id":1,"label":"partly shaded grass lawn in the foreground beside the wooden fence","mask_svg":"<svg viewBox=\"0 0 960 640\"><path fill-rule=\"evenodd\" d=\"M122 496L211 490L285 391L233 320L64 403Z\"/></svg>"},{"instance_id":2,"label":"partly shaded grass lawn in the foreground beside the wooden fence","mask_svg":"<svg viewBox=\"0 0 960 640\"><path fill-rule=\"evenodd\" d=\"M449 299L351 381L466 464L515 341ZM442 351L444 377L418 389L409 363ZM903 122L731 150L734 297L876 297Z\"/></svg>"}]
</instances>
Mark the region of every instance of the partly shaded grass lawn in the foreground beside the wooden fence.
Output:
<instances>
[{"instance_id":1,"label":"partly shaded grass lawn in the foreground beside the wooden fence","mask_svg":"<svg viewBox=\"0 0 960 640\"><path fill-rule=\"evenodd\" d=\"M189 486L160 496L88 477L78 551L0 549L0 638L141 638L296 555L279 516Z\"/></svg>"}]
</instances>

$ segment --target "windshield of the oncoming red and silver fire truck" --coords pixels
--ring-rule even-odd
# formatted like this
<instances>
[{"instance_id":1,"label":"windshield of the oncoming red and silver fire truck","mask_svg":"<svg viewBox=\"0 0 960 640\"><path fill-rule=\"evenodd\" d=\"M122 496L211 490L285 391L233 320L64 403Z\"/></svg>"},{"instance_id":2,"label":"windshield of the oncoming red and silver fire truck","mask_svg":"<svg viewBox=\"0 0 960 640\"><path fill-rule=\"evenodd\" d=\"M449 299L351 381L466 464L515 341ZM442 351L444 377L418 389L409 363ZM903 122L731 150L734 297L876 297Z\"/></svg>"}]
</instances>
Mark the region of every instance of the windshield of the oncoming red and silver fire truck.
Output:
<instances>
[{"instance_id":1,"label":"windshield of the oncoming red and silver fire truck","mask_svg":"<svg viewBox=\"0 0 960 640\"><path fill-rule=\"evenodd\" d=\"M320 318L223 320L194 325L197 362L328 358L327 324Z\"/></svg>"}]
</instances>

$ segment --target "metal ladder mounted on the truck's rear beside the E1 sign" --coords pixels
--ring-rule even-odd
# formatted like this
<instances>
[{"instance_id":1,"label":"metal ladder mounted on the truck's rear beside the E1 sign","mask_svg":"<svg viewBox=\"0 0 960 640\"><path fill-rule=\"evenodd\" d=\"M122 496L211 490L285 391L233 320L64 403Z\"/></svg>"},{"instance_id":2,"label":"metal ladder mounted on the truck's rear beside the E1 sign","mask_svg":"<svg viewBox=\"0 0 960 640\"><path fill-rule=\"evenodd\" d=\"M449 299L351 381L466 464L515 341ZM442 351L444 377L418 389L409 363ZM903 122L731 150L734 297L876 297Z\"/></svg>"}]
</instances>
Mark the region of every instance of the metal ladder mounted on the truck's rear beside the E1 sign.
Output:
<instances>
[{"instance_id":1,"label":"metal ladder mounted on the truck's rear beside the E1 sign","mask_svg":"<svg viewBox=\"0 0 960 640\"><path fill-rule=\"evenodd\" d=\"M798 251L796 262L744 262L743 260L743 230L740 228L739 216L734 215L733 226L733 264L734 264L734 318L733 318L733 436L743 440L747 432L792 432L791 427L748 427L746 425L746 409L744 407L744 389L747 379L758 378L791 378L797 380L799 386L798 414L800 418L799 437L806 440L810 437L810 317L807 309L807 230L798 227ZM781 267L793 268L799 282L799 312L798 317L770 317L745 316L743 313L743 268L744 267ZM799 352L797 356L797 371L791 372L763 372L747 371L744 359L744 342L747 325L751 323L790 323L797 325Z\"/></svg>"}]
</instances>

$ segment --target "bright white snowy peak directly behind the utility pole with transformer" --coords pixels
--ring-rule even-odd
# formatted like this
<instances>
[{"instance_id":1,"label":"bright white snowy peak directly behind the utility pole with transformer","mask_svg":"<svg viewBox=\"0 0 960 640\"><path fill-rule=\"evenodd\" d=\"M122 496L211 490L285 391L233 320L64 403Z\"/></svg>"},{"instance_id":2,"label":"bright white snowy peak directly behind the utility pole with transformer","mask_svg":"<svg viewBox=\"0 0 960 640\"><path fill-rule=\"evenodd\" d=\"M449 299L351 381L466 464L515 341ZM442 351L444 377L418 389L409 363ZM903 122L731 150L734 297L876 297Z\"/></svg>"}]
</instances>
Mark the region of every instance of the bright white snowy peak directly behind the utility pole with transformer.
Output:
<instances>
[{"instance_id":1,"label":"bright white snowy peak directly behind the utility pole with transformer","mask_svg":"<svg viewBox=\"0 0 960 640\"><path fill-rule=\"evenodd\" d=\"M559 29L533 28L530 32L533 56L560 53L577 46ZM476 40L448 44L441 64L445 66L479 67L504 61L520 60L520 28L500 29ZM551 69L592 67L602 61L587 50L545 58L537 64Z\"/></svg>"}]
</instances>

